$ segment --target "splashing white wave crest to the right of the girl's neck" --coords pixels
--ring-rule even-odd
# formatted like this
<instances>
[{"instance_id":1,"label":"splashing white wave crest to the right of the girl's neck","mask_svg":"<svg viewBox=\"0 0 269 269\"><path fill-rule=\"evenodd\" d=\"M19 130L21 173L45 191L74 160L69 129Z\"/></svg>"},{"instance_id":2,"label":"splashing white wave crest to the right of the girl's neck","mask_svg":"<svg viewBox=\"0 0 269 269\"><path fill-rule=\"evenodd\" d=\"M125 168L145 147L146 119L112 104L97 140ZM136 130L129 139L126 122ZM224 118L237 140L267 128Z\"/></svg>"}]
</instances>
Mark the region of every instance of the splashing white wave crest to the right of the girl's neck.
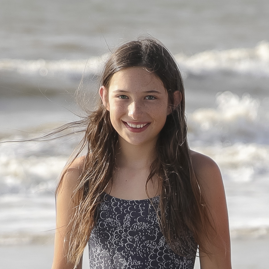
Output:
<instances>
[{"instance_id":1,"label":"splashing white wave crest to the right of the girl's neck","mask_svg":"<svg viewBox=\"0 0 269 269\"><path fill-rule=\"evenodd\" d=\"M216 104L188 115L192 143L269 143L269 109L259 100L226 91L217 95Z\"/></svg>"}]
</instances>

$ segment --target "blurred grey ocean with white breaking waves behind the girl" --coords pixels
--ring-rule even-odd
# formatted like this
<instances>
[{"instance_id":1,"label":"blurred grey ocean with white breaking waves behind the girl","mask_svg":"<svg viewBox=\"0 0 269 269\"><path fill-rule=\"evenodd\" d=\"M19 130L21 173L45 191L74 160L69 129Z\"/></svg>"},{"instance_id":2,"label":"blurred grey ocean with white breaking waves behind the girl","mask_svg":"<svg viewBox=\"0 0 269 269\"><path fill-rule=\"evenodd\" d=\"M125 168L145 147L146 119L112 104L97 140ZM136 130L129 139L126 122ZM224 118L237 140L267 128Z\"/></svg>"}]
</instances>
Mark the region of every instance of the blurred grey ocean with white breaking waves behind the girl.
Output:
<instances>
[{"instance_id":1,"label":"blurred grey ocean with white breaking waves behind the girl","mask_svg":"<svg viewBox=\"0 0 269 269\"><path fill-rule=\"evenodd\" d=\"M78 119L83 73L94 102L109 50L151 34L184 76L190 147L221 169L232 238L268 236L269 1L0 0L0 7L0 141ZM52 240L54 190L78 139L0 144L1 245Z\"/></svg>"}]
</instances>

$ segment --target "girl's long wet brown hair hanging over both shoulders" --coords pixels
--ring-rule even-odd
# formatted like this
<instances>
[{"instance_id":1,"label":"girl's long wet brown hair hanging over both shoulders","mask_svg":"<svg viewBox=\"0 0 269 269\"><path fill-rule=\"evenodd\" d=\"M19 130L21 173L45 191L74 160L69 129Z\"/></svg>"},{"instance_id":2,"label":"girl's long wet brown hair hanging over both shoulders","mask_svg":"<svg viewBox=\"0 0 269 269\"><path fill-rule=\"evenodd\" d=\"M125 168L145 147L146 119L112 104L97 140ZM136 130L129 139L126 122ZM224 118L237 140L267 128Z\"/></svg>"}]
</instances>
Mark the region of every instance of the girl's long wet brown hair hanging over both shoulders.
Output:
<instances>
[{"instance_id":1,"label":"girl's long wet brown hair hanging over both shoulders","mask_svg":"<svg viewBox=\"0 0 269 269\"><path fill-rule=\"evenodd\" d=\"M159 135L157 158L151 164L147 183L155 175L160 178L161 194L157 213L161 230L171 248L180 255L190 256L196 253L198 244L201 250L207 252L206 245L200 244L202 239L204 243L204 239L209 238L205 227L211 225L210 214L192 168L187 141L184 86L176 61L158 40L142 38L130 41L116 48L109 56L102 71L100 86L108 88L113 74L128 67L143 67L159 77L167 90L170 104L173 104L175 91L182 95L180 104L173 107ZM69 245L66 246L68 260L76 265L95 225L101 195L115 171L115 147L118 141L118 134L101 99L96 110L89 113L80 124L85 124L86 128L79 153L86 148L86 156L74 190L77 206L70 221L72 225L67 235ZM61 179L67 170L68 166ZM61 184L62 180L56 194Z\"/></svg>"}]
</instances>

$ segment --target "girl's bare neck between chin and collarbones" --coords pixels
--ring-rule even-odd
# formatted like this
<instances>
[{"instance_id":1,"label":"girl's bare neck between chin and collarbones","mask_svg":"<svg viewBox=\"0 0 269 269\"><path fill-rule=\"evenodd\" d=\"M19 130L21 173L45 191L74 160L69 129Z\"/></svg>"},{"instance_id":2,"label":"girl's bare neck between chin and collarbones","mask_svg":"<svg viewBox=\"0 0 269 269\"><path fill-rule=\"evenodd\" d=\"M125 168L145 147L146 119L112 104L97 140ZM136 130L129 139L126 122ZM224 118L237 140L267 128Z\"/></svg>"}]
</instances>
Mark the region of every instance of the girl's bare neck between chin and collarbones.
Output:
<instances>
[{"instance_id":1,"label":"girl's bare neck between chin and collarbones","mask_svg":"<svg viewBox=\"0 0 269 269\"><path fill-rule=\"evenodd\" d=\"M145 145L132 145L119 138L116 163L118 167L149 169L155 159L156 142Z\"/></svg>"}]
</instances>

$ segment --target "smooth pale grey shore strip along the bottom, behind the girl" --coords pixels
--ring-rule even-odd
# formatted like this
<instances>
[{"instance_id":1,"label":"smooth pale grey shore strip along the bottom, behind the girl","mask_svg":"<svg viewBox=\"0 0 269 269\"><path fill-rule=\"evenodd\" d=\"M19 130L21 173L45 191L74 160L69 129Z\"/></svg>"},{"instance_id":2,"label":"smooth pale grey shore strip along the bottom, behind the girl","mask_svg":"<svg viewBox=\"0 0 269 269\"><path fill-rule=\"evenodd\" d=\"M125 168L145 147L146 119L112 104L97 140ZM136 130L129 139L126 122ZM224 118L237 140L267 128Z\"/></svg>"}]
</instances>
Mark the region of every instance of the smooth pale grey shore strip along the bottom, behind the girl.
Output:
<instances>
[{"instance_id":1,"label":"smooth pale grey shore strip along the bottom, behind the girl","mask_svg":"<svg viewBox=\"0 0 269 269\"><path fill-rule=\"evenodd\" d=\"M1 268L9 269L47 269L53 259L53 241L46 243L0 245ZM231 239L233 269L267 269L269 237L246 237ZM84 251L83 269L89 269L88 248ZM196 260L194 269L199 269Z\"/></svg>"}]
</instances>

